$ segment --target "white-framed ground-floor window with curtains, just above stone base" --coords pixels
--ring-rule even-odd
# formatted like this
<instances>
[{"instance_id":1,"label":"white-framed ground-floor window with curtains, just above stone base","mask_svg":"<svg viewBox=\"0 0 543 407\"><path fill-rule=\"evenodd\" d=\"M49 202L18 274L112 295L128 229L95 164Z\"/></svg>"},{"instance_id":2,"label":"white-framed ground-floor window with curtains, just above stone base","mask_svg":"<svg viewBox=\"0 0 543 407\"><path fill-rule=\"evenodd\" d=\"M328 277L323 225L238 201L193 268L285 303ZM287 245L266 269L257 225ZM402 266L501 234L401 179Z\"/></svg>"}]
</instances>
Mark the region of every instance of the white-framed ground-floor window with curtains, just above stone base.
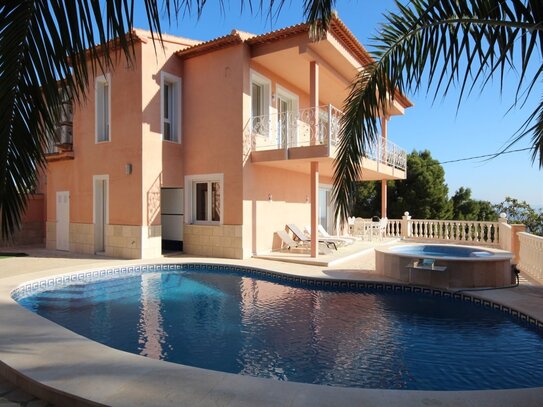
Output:
<instances>
[{"instance_id":1,"label":"white-framed ground-floor window with curtains, just above stone base","mask_svg":"<svg viewBox=\"0 0 543 407\"><path fill-rule=\"evenodd\" d=\"M188 176L185 185L190 185L187 196L189 222L220 224L222 222L223 175L209 174ZM187 194L187 195L189 195Z\"/></svg>"}]
</instances>

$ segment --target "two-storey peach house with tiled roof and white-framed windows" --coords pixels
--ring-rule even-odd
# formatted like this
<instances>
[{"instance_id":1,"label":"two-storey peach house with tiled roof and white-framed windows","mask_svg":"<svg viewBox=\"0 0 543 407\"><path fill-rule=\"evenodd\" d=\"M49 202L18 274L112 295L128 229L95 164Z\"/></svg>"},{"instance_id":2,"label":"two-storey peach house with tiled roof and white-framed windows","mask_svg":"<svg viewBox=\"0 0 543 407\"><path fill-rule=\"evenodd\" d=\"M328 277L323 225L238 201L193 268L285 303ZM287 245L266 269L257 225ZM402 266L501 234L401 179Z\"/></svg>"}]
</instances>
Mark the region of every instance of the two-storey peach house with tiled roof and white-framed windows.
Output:
<instances>
[{"instance_id":1,"label":"two-storey peach house with tiled roof and white-framed windows","mask_svg":"<svg viewBox=\"0 0 543 407\"><path fill-rule=\"evenodd\" d=\"M135 34L133 66L119 58L89 84L70 147L49 156L48 248L246 258L280 247L287 223L334 226L337 109L369 60L341 21L320 42L300 25L204 43L165 36L156 53ZM398 95L388 114L409 106ZM364 158L362 179L404 178L391 154Z\"/></svg>"}]
</instances>

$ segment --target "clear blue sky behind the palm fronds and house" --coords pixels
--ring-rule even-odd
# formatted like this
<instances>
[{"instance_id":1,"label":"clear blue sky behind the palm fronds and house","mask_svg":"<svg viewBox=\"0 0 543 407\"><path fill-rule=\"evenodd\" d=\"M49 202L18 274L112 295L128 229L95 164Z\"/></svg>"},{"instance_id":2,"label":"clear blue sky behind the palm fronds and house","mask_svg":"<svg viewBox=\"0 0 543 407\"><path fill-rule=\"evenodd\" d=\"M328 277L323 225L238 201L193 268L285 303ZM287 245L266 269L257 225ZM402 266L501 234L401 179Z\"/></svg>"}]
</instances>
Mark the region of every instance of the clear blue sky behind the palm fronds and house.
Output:
<instances>
[{"instance_id":1,"label":"clear blue sky behind the palm fronds and house","mask_svg":"<svg viewBox=\"0 0 543 407\"><path fill-rule=\"evenodd\" d=\"M248 4L248 2L245 2ZM258 3L258 2L256 2ZM270 21L266 15L240 12L240 3L225 1L224 11L208 3L200 19L195 15L164 20L163 31L198 40L209 40L230 33L234 28L260 34L304 21L301 2L286 2L278 18ZM354 35L371 49L370 38L383 22L382 13L394 9L391 0L339 1L339 17ZM143 10L136 11L136 27L148 28ZM516 76L506 78L500 95L498 86L475 92L457 111L458 92L452 90L446 98L435 102L425 92L408 94L414 107L405 116L396 116L389 123L389 139L408 152L428 149L440 162L493 154L508 144L510 137L522 125L536 106L541 89L536 88L522 107L511 107ZM529 147L525 137L512 149ZM543 171L532 164L530 152L502 155L492 160L470 160L443 164L449 195L458 188L471 188L475 199L499 203L505 196L525 200L535 207L543 206ZM408 169L409 170L409 169Z\"/></svg>"}]
</instances>

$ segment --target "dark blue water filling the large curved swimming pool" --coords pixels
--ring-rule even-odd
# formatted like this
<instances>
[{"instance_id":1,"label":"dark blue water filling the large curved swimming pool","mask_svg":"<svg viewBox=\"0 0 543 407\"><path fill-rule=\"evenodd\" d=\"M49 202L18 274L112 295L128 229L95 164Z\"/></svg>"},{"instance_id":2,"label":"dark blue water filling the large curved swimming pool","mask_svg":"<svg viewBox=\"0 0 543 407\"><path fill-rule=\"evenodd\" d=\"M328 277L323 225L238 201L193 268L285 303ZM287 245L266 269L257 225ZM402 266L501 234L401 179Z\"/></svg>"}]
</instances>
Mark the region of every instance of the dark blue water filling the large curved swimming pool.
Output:
<instances>
[{"instance_id":1,"label":"dark blue water filling the large curved swimming pool","mask_svg":"<svg viewBox=\"0 0 543 407\"><path fill-rule=\"evenodd\" d=\"M113 348L243 375L379 389L543 386L541 331L440 296L171 271L19 299Z\"/></svg>"}]
</instances>

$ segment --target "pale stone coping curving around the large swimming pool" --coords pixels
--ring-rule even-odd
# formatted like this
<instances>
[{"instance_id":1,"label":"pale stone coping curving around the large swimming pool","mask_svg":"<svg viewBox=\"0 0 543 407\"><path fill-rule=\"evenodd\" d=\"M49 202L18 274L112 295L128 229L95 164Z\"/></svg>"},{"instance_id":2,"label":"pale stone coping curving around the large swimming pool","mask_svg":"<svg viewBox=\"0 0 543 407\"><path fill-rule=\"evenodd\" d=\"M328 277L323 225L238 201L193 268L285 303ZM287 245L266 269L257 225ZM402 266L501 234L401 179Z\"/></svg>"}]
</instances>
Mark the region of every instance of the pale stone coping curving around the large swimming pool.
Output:
<instances>
[{"instance_id":1,"label":"pale stone coping curving around the large swimming pool","mask_svg":"<svg viewBox=\"0 0 543 407\"><path fill-rule=\"evenodd\" d=\"M209 263L242 266L266 270L287 279L301 277L315 280L348 280L356 284L360 279L325 273L308 272L301 276L284 271L285 264L273 261L230 261L226 259L171 258L153 261L114 262L99 268L123 268L137 264ZM262 266L265 264L265 267ZM96 269L88 265L57 268L31 274L0 279L0 374L31 391L44 400L59 405L108 406L238 406L238 405L421 405L439 403L455 406L540 405L543 387L513 390L482 391L411 391L339 388L312 384L279 382L229 373L208 371L173 364L123 351L88 340L48 321L17 304L11 292L22 283L47 280L61 274L81 274ZM299 269L299 268L298 268ZM315 269L313 267L312 269ZM294 280L296 281L296 280ZM370 284L404 286L401 283L371 281ZM429 289L431 290L431 289ZM443 290L441 290L443 291ZM498 290L492 290L498 291ZM499 290L504 292L505 290ZM477 298L476 301L498 303L495 293L458 295ZM506 298L507 299L507 298ZM467 300L467 299L466 299ZM507 301L506 301L507 302ZM532 318L543 320L540 310L501 305ZM490 305L492 306L492 305ZM539 312L536 312L539 311ZM520 315L517 315L523 319Z\"/></svg>"}]
</instances>

